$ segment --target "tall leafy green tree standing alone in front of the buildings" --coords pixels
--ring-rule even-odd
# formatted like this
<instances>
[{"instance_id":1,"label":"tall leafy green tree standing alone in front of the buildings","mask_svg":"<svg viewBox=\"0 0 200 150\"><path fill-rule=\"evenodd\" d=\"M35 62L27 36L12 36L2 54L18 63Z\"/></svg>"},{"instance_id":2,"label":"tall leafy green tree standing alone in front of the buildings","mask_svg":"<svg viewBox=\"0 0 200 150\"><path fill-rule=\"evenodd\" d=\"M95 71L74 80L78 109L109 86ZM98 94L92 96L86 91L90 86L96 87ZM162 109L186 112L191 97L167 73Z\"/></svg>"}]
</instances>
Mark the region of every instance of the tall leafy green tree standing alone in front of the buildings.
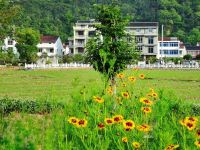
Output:
<instances>
[{"instance_id":1,"label":"tall leafy green tree standing alone in front of the buildings","mask_svg":"<svg viewBox=\"0 0 200 150\"><path fill-rule=\"evenodd\" d=\"M86 61L115 84L115 76L137 56L135 44L125 31L129 23L116 4L97 5L96 36L86 45ZM107 86L107 84L105 85Z\"/></svg>"}]
</instances>

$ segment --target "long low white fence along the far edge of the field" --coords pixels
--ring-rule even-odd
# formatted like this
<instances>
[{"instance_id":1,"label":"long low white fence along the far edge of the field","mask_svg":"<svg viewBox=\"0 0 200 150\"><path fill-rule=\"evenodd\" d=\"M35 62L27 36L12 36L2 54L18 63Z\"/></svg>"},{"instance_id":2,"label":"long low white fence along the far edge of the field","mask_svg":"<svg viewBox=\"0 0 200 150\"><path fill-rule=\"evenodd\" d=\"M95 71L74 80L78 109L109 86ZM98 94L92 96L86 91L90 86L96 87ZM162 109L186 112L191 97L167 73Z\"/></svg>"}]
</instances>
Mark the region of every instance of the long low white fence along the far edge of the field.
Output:
<instances>
[{"instance_id":1,"label":"long low white fence along the far edge of the field","mask_svg":"<svg viewBox=\"0 0 200 150\"><path fill-rule=\"evenodd\" d=\"M128 65L127 68L147 68L147 69L200 69L198 64L138 64ZM50 69L50 68L92 68L89 64L70 63L70 64L25 64L25 69Z\"/></svg>"}]
</instances>

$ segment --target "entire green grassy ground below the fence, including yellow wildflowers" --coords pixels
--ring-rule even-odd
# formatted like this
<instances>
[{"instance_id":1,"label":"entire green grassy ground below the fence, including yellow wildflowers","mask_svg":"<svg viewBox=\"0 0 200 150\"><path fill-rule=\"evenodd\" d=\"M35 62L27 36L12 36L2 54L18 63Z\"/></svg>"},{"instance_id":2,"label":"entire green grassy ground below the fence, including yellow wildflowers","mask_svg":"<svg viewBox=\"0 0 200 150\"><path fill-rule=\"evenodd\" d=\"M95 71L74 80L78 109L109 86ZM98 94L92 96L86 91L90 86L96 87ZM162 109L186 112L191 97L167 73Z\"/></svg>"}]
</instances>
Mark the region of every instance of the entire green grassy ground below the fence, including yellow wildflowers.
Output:
<instances>
[{"instance_id":1,"label":"entire green grassy ground below the fence, including yellow wildflowers","mask_svg":"<svg viewBox=\"0 0 200 150\"><path fill-rule=\"evenodd\" d=\"M0 149L200 148L199 71L126 70L116 94L102 94L102 79L89 69L1 70L10 99L0 100Z\"/></svg>"}]
</instances>

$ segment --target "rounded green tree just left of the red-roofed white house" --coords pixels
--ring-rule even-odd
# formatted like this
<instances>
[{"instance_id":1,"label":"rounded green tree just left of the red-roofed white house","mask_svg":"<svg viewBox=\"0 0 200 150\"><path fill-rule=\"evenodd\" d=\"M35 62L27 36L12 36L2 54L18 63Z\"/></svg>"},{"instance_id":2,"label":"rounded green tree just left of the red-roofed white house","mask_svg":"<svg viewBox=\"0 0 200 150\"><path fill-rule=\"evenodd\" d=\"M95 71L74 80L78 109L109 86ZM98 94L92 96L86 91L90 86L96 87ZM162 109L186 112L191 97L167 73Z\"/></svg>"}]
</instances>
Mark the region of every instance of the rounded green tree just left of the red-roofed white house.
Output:
<instances>
[{"instance_id":1,"label":"rounded green tree just left of the red-roofed white house","mask_svg":"<svg viewBox=\"0 0 200 150\"><path fill-rule=\"evenodd\" d=\"M40 34L31 28L21 29L16 34L17 50L22 62L34 63L37 60L37 47L40 41Z\"/></svg>"}]
</instances>

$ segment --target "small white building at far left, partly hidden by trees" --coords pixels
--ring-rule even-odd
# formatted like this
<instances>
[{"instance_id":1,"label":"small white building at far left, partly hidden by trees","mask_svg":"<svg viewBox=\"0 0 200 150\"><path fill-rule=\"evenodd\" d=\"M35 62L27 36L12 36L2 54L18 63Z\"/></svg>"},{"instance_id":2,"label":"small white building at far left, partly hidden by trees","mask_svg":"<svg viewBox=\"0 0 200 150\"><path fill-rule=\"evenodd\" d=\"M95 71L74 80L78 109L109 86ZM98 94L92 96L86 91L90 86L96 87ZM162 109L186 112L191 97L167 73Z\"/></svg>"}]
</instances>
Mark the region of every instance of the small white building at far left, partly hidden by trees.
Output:
<instances>
[{"instance_id":1,"label":"small white building at far left, partly hidden by trees","mask_svg":"<svg viewBox=\"0 0 200 150\"><path fill-rule=\"evenodd\" d=\"M4 44L2 46L3 50L12 49L14 54L17 54L17 48L15 47L16 41L10 37L4 39Z\"/></svg>"}]
</instances>

